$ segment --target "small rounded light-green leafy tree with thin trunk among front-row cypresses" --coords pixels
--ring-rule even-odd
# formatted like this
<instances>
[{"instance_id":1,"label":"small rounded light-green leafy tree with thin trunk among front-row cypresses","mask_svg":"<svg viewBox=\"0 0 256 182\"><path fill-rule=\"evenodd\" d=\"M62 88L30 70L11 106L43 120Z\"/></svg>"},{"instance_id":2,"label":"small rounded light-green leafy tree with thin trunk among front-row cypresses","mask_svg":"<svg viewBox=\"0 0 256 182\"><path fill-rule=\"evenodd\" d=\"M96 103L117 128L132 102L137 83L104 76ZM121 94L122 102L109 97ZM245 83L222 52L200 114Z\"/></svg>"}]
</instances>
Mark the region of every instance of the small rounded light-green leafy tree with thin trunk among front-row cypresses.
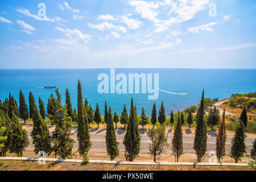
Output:
<instances>
[{"instance_id":1,"label":"small rounded light-green leafy tree with thin trunk among front-row cypresses","mask_svg":"<svg viewBox=\"0 0 256 182\"><path fill-rule=\"evenodd\" d=\"M148 130L147 136L152 142L148 146L149 154L152 158L154 158L154 162L156 162L156 157L160 158L160 155L166 152L164 147L169 146L166 129L164 126L160 126L157 129L153 127L152 129Z\"/></svg>"}]
</instances>

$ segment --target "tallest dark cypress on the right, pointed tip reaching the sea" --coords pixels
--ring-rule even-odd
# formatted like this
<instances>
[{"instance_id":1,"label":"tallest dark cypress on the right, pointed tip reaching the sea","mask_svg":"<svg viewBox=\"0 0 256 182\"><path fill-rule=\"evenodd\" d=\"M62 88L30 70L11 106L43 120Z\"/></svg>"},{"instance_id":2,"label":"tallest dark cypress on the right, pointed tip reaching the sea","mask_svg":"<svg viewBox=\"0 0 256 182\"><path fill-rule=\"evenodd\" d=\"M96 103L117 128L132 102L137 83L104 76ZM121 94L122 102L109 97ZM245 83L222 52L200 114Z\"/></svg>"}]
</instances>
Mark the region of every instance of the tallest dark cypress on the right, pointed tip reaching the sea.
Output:
<instances>
[{"instance_id":1,"label":"tallest dark cypress on the right, pointed tip reaching the sea","mask_svg":"<svg viewBox=\"0 0 256 182\"><path fill-rule=\"evenodd\" d=\"M207 151L207 125L204 121L204 90L197 113L197 125L193 149L196 151L197 162L201 162Z\"/></svg>"}]
</instances>

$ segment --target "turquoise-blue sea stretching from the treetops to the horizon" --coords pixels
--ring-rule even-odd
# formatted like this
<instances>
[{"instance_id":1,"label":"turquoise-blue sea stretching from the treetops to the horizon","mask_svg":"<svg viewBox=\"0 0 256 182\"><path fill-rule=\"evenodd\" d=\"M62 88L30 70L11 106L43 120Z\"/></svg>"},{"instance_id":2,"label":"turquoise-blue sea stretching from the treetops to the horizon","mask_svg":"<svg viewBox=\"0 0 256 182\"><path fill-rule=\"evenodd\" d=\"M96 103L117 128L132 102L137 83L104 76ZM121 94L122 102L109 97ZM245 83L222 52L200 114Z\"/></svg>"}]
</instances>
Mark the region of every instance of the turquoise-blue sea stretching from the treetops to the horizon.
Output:
<instances>
[{"instance_id":1,"label":"turquoise-blue sea stretching from the treetops to the horizon","mask_svg":"<svg viewBox=\"0 0 256 182\"><path fill-rule=\"evenodd\" d=\"M71 94L73 108L77 107L77 80L82 84L82 96L87 97L93 109L98 102L101 115L104 115L104 105L107 101L112 112L121 114L123 105L129 111L131 97L141 114L142 106L148 116L151 115L152 105L156 103L159 110L163 101L166 113L171 110L184 110L191 105L199 104L201 93L205 89L205 97L230 97L234 93L256 92L256 69L115 69L115 74L124 73L159 73L159 97L148 100L148 94L100 94L97 80L100 73L106 73L110 78L110 69L0 69L0 99L9 97L9 92L19 101L19 89L22 89L28 104L28 94L31 91L38 104L39 96L47 106L47 100L55 89L44 89L45 85L55 85L63 94L65 90ZM117 83L116 81L115 83ZM127 80L128 83L128 80ZM154 85L154 84L153 84ZM128 89L127 89L128 90ZM188 95L171 94L188 93Z\"/></svg>"}]
</instances>

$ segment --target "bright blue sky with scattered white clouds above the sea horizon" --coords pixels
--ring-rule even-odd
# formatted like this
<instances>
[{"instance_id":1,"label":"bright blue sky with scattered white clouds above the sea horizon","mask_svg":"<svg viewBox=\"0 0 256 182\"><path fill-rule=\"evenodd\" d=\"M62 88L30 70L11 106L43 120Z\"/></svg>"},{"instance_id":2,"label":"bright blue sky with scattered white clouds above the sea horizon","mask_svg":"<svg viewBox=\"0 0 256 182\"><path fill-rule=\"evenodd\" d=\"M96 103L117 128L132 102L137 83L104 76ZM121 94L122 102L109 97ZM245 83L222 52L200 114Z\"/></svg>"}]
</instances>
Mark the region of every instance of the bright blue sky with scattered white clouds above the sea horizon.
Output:
<instances>
[{"instance_id":1,"label":"bright blue sky with scattered white clouds above the sea horizon","mask_svg":"<svg viewBox=\"0 0 256 182\"><path fill-rule=\"evenodd\" d=\"M0 68L256 68L255 19L253 0L1 0Z\"/></svg>"}]
</instances>

